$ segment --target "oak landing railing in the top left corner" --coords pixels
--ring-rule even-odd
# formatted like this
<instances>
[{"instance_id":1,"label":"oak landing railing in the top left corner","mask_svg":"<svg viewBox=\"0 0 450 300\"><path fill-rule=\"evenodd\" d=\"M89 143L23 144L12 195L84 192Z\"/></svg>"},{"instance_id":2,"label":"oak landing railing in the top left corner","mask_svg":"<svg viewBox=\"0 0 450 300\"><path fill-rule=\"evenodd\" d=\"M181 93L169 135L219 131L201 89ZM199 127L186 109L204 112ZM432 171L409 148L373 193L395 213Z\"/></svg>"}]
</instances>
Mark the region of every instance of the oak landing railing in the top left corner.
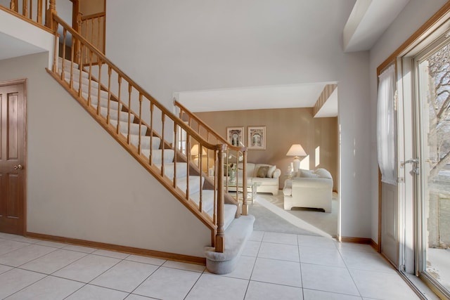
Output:
<instances>
[{"instance_id":1,"label":"oak landing railing in the top left corner","mask_svg":"<svg viewBox=\"0 0 450 300\"><path fill-rule=\"evenodd\" d=\"M52 30L51 16L56 13L56 0L11 0L9 11L44 30Z\"/></svg>"}]
</instances>

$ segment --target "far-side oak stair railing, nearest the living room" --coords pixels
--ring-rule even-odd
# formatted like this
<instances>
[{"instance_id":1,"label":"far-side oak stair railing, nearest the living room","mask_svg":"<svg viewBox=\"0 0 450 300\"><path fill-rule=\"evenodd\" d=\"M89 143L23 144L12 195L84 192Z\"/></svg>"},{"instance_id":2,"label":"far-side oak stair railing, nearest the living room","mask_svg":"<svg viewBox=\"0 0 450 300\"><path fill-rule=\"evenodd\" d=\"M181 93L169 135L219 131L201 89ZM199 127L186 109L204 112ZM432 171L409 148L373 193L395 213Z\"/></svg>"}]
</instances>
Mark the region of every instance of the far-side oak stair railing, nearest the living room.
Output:
<instances>
[{"instance_id":1,"label":"far-side oak stair railing, nearest the living room","mask_svg":"<svg viewBox=\"0 0 450 300\"><path fill-rule=\"evenodd\" d=\"M190 110L188 110L184 105L174 100L174 105L179 111L179 118L182 119L188 126L193 129L196 133L202 136L205 141L212 144L225 144L226 153L224 154L224 168L229 169L229 171L224 172L226 178L224 186L226 193L229 191L229 187L233 185L236 188L236 197L238 197L238 185L242 183L242 193L243 193L243 206L242 214L248 214L248 189L247 187L247 148L244 146L231 145L226 138L221 136L217 131L214 131L210 126L205 124L199 117L194 115ZM184 136L179 135L179 143L184 143ZM231 178L231 172L235 172L234 178ZM240 178L242 177L242 178Z\"/></svg>"}]
</instances>

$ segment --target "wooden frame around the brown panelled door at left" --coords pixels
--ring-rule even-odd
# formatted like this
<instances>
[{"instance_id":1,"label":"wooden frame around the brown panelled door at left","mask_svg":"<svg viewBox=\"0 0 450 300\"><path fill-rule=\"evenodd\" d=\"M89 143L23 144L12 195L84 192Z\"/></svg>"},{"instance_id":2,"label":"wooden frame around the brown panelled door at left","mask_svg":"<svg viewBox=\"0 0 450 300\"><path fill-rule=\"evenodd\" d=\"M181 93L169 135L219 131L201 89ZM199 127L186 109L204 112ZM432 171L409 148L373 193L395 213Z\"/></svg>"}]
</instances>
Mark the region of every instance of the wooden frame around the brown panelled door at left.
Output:
<instances>
[{"instance_id":1,"label":"wooden frame around the brown panelled door at left","mask_svg":"<svg viewBox=\"0 0 450 300\"><path fill-rule=\"evenodd\" d=\"M27 126L27 79L11 79L6 81L0 81L0 87L11 86L16 84L23 85L23 110L24 110L24 132L23 132L23 220L22 220L22 235L27 232L27 146L28 146L28 126Z\"/></svg>"}]
</instances>

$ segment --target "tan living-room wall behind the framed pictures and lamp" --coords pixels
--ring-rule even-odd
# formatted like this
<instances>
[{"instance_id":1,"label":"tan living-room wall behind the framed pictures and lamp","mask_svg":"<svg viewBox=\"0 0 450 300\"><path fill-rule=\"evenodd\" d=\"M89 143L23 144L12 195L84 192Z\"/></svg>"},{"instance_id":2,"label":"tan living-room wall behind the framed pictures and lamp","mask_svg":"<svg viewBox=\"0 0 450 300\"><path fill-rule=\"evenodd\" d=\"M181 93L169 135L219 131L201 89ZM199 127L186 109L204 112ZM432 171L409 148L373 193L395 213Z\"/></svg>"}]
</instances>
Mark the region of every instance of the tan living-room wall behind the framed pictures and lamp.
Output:
<instances>
[{"instance_id":1,"label":"tan living-room wall behind the framed pictures and lamp","mask_svg":"<svg viewBox=\"0 0 450 300\"><path fill-rule=\"evenodd\" d=\"M244 145L248 145L248 126L266 126L266 150L249 150L248 161L276 164L281 169L280 188L283 188L292 144L300 143L307 157L300 157L305 169L324 168L330 171L334 190L338 190L338 118L314 118L311 108L283 108L275 110L234 110L226 112L197 112L200 119L217 133L226 136L227 126L243 126ZM319 164L316 165L316 148ZM308 164L309 162L309 164Z\"/></svg>"}]
</instances>

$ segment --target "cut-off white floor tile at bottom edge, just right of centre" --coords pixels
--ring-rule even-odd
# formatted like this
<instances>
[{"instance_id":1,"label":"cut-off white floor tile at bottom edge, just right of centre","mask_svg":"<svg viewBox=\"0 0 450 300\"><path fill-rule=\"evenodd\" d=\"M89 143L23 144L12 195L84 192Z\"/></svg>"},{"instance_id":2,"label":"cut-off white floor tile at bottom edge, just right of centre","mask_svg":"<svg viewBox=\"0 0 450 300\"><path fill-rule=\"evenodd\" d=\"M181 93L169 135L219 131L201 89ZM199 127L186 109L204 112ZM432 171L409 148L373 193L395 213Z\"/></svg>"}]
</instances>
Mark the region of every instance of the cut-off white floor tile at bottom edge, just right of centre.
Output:
<instances>
[{"instance_id":1,"label":"cut-off white floor tile at bottom edge, just right of centre","mask_svg":"<svg viewBox=\"0 0 450 300\"><path fill-rule=\"evenodd\" d=\"M300 287L288 287L274 285L266 282L250 281L245 300L301 300L302 289Z\"/></svg>"}]
</instances>

